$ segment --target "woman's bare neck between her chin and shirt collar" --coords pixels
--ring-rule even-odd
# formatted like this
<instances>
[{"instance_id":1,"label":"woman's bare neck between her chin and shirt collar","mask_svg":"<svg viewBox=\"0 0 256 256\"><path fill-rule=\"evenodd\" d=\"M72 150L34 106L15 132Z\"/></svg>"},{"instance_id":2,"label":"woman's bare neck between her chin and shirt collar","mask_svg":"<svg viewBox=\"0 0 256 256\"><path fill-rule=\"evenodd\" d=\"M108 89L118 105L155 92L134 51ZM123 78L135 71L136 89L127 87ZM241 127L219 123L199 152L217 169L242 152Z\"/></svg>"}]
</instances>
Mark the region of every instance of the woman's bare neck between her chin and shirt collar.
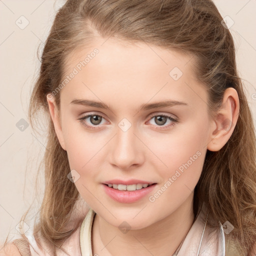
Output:
<instances>
[{"instance_id":1,"label":"woman's bare neck between her chin and shirt collar","mask_svg":"<svg viewBox=\"0 0 256 256\"><path fill-rule=\"evenodd\" d=\"M172 255L194 220L193 193L165 218L127 233L95 215L92 226L92 255Z\"/></svg>"}]
</instances>

